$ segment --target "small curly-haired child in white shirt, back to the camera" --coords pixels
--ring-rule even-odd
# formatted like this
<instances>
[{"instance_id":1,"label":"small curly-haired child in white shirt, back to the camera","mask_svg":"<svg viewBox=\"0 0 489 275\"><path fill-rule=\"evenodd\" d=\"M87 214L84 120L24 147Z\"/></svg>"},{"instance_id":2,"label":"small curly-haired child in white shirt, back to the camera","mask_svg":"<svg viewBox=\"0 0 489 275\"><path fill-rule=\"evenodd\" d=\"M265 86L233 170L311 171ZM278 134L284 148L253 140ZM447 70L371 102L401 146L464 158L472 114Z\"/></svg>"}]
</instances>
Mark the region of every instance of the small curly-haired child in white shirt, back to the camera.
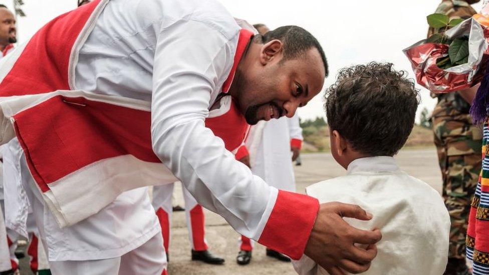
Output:
<instances>
[{"instance_id":1,"label":"small curly-haired child in white shirt, back to the camera","mask_svg":"<svg viewBox=\"0 0 489 275\"><path fill-rule=\"evenodd\" d=\"M450 218L438 192L399 170L394 158L414 125L418 92L392 64L343 69L326 94L331 153L347 175L307 187L320 203L358 204L373 214L360 229L379 228L382 240L366 274L442 274ZM294 262L300 274L328 274L312 259Z\"/></svg>"}]
</instances>

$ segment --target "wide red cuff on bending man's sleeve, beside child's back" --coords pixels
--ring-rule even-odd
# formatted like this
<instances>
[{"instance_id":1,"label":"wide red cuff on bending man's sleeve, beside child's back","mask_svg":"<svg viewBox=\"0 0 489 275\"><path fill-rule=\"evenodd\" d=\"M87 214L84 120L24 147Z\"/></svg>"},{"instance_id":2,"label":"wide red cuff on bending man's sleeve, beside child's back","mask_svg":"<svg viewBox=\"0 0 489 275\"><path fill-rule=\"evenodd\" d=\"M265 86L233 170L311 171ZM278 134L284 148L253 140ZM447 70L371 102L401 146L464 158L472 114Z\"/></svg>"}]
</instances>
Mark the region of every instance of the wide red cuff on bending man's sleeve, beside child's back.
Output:
<instances>
[{"instance_id":1,"label":"wide red cuff on bending man's sleeve, beside child's back","mask_svg":"<svg viewBox=\"0 0 489 275\"><path fill-rule=\"evenodd\" d=\"M279 190L274 209L258 242L294 260L300 259L318 211L319 201L316 198Z\"/></svg>"}]
</instances>

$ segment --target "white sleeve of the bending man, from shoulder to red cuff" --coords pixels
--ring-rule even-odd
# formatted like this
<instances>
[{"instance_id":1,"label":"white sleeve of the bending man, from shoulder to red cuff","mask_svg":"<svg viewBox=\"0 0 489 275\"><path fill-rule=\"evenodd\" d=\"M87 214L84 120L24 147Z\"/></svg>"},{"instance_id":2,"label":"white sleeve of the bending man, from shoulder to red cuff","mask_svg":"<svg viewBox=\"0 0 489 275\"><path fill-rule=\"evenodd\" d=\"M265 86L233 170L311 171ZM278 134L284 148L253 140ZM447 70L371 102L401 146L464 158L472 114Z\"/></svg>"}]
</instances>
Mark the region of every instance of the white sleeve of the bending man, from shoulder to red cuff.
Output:
<instances>
[{"instance_id":1,"label":"white sleeve of the bending man, from shoulder to red cuff","mask_svg":"<svg viewBox=\"0 0 489 275\"><path fill-rule=\"evenodd\" d=\"M228 39L200 22L162 28L153 68L151 137L156 155L199 204L259 239L278 190L236 161L204 125L211 94L229 71L233 52Z\"/></svg>"}]
</instances>

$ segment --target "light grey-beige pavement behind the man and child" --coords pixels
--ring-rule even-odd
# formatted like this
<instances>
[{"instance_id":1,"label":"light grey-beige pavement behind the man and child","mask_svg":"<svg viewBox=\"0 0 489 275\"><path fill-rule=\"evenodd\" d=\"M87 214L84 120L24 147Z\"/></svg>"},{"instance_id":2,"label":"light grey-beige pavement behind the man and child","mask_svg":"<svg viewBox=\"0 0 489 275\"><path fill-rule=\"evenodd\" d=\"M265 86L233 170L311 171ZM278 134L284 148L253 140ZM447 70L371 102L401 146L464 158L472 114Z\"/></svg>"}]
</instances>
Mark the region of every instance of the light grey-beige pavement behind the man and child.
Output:
<instances>
[{"instance_id":1,"label":"light grey-beige pavement behind the man and child","mask_svg":"<svg viewBox=\"0 0 489 275\"><path fill-rule=\"evenodd\" d=\"M405 149L396 157L402 170L441 190L439 172L434 148ZM302 155L302 166L294 166L297 191L315 182L344 175L346 171L338 165L330 153L311 153ZM179 184L175 186L175 199L183 206L183 196ZM210 250L225 258L223 265L215 266L190 260L190 243L185 224L184 212L175 212L172 217L170 242L170 274L294 274L290 263L279 262L265 255L265 247L255 246L252 262L246 266L236 264L239 235L215 213L205 210L205 237ZM294 237L294 236L291 236ZM28 268L24 261L24 270ZM29 274L28 272L22 272Z\"/></svg>"}]
</instances>

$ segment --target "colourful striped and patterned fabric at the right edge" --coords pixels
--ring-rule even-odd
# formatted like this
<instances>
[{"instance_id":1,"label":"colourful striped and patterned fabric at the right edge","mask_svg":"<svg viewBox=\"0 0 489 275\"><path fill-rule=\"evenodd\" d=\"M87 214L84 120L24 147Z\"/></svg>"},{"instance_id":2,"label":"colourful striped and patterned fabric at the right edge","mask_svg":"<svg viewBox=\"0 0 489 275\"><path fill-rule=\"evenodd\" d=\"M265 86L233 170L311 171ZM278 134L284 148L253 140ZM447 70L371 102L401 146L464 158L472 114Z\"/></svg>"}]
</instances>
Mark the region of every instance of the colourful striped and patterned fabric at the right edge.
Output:
<instances>
[{"instance_id":1,"label":"colourful striped and patterned fabric at the right edge","mask_svg":"<svg viewBox=\"0 0 489 275\"><path fill-rule=\"evenodd\" d=\"M489 274L489 124L484 124L482 170L472 199L465 241L467 259L473 261L473 274Z\"/></svg>"}]
</instances>

